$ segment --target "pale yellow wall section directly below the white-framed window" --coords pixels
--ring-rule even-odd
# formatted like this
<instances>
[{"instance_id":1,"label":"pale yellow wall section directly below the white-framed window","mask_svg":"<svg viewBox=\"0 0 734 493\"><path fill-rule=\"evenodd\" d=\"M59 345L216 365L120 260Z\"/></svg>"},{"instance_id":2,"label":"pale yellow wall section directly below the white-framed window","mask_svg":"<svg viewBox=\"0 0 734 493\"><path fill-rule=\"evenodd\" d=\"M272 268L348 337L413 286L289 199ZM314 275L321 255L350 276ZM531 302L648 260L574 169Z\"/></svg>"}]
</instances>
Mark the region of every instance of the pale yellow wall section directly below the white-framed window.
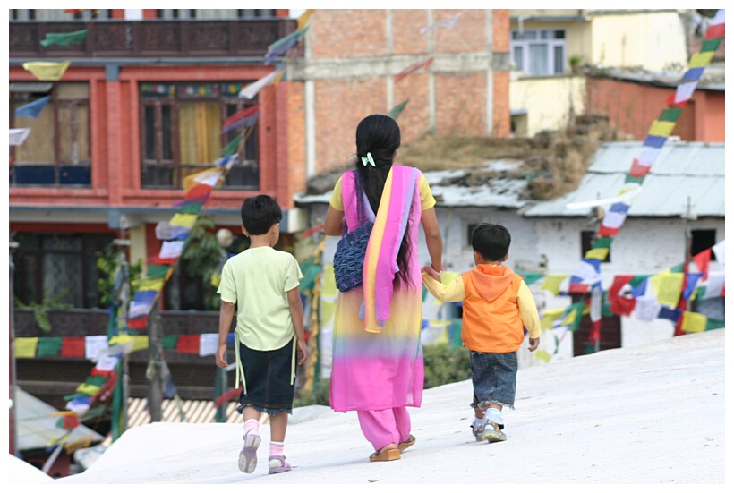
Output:
<instances>
[{"instance_id":1,"label":"pale yellow wall section directly below the white-framed window","mask_svg":"<svg viewBox=\"0 0 734 493\"><path fill-rule=\"evenodd\" d=\"M509 84L511 110L527 110L527 135L542 130L560 130L575 115L585 111L586 80L582 76L517 79Z\"/></svg>"}]
</instances>

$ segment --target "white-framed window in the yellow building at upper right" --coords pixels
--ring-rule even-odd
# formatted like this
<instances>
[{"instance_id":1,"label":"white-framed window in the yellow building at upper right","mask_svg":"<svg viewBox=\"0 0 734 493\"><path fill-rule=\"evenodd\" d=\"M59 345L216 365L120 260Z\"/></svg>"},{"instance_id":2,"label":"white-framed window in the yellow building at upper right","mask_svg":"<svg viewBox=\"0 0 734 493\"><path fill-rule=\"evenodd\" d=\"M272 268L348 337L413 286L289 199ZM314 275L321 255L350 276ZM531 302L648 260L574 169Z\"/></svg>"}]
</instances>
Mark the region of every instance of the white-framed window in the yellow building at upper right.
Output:
<instances>
[{"instance_id":1,"label":"white-framed window in the yellow building at upper right","mask_svg":"<svg viewBox=\"0 0 734 493\"><path fill-rule=\"evenodd\" d=\"M565 30L512 30L515 70L533 75L566 72Z\"/></svg>"}]
</instances>

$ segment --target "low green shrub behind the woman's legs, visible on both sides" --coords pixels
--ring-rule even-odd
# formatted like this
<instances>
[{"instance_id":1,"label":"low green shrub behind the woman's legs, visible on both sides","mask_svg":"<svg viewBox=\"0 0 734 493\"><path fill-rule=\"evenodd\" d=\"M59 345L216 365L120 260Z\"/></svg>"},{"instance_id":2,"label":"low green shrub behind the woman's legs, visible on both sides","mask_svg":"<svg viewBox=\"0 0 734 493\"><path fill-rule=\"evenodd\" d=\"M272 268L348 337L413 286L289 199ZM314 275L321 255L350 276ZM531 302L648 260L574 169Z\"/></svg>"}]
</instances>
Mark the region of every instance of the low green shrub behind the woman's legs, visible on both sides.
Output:
<instances>
[{"instance_id":1,"label":"low green shrub behind the woman's legs, visible on both sides","mask_svg":"<svg viewBox=\"0 0 734 493\"><path fill-rule=\"evenodd\" d=\"M423 346L425 382L423 388L438 387L472 378L469 352L465 347L452 348L449 344ZM329 405L329 378L321 378L312 392L303 388L296 392L294 407Z\"/></svg>"}]
</instances>

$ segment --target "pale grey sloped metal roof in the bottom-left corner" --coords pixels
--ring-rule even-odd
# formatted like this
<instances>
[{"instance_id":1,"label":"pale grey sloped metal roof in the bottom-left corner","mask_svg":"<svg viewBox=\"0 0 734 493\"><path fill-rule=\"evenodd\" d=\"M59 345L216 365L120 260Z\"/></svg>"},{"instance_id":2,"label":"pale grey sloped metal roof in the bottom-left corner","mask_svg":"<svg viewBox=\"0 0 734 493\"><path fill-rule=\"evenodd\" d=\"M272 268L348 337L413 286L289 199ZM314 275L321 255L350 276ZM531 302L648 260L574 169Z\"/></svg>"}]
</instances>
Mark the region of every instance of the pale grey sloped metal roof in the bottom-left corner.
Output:
<instances>
[{"instance_id":1,"label":"pale grey sloped metal roof in the bottom-left corner","mask_svg":"<svg viewBox=\"0 0 734 493\"><path fill-rule=\"evenodd\" d=\"M58 409L21 388L16 388L13 405L17 412L16 432L18 449L21 451L46 448L55 443L55 440L64 437L68 431L56 426L61 417L53 416L53 414L59 412ZM73 442L90 437L92 442L97 443L104 439L97 431L79 425L72 430L71 435L65 441Z\"/></svg>"}]
</instances>

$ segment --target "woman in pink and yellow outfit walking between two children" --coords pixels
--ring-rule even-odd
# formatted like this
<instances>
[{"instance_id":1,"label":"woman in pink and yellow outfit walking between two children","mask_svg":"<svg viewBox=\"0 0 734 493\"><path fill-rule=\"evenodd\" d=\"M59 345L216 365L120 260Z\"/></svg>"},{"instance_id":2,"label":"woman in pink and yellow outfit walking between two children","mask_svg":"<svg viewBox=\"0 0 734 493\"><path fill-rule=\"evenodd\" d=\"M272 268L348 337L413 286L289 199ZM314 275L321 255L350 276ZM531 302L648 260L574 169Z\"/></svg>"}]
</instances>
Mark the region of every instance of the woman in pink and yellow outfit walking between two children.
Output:
<instances>
[{"instance_id":1,"label":"woman in pink and yellow outfit walking between two children","mask_svg":"<svg viewBox=\"0 0 734 493\"><path fill-rule=\"evenodd\" d=\"M371 461L399 459L415 441L407 407L420 407L423 392L419 225L436 273L443 251L436 200L418 169L393 164L399 147L395 120L364 118L354 170L339 178L325 219L326 234L335 236L345 221L348 232L364 220L374 223L363 285L338 293L329 387L334 411L357 412L375 450Z\"/></svg>"}]
</instances>

